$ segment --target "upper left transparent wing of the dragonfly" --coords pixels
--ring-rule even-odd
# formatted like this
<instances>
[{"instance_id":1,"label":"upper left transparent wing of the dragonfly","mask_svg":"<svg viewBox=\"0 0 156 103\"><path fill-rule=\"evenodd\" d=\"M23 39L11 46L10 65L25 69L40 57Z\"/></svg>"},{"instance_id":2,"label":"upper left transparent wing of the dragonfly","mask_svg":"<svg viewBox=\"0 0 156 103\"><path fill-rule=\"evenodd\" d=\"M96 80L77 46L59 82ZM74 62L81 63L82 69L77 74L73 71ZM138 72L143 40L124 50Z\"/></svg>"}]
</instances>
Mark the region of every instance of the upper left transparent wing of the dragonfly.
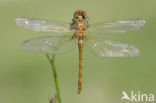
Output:
<instances>
[{"instance_id":1,"label":"upper left transparent wing of the dragonfly","mask_svg":"<svg viewBox=\"0 0 156 103\"><path fill-rule=\"evenodd\" d=\"M46 33L69 33L70 25L68 23L47 21L42 19L17 18L16 25L26 30Z\"/></svg>"}]
</instances>

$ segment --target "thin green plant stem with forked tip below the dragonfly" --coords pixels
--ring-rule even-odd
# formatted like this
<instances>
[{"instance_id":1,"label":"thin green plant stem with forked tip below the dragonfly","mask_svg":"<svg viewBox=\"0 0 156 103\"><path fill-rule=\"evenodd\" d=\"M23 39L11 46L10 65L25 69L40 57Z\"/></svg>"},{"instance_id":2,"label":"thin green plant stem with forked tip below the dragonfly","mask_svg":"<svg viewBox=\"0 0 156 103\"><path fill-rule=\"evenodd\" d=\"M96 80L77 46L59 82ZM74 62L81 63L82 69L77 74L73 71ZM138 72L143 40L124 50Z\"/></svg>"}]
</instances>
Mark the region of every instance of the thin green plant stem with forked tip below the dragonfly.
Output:
<instances>
[{"instance_id":1,"label":"thin green plant stem with forked tip below the dragonfly","mask_svg":"<svg viewBox=\"0 0 156 103\"><path fill-rule=\"evenodd\" d=\"M55 55L52 55L52 57L50 58L49 55L46 55L50 64L51 64L51 68L53 71L53 75L54 75L54 81L55 81L55 87L56 87L56 92L57 92L57 99L59 103L61 102L61 97L60 97L60 90L59 90L59 84L58 84L58 77L57 77L57 73L56 73L56 67L55 67Z\"/></svg>"}]
</instances>

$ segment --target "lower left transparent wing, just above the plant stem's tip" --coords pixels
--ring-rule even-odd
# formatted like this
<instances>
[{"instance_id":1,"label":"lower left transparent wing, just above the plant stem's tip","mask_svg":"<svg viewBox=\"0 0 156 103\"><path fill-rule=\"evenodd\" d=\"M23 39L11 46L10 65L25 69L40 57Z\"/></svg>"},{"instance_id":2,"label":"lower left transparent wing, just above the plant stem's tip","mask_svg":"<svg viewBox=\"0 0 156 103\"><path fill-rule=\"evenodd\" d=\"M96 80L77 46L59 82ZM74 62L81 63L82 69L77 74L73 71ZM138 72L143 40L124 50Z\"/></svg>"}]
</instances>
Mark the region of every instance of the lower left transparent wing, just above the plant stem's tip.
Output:
<instances>
[{"instance_id":1,"label":"lower left transparent wing, just above the plant stem's tip","mask_svg":"<svg viewBox=\"0 0 156 103\"><path fill-rule=\"evenodd\" d=\"M30 52L45 52L46 54L63 54L75 48L76 40L72 36L48 36L27 40L21 49Z\"/></svg>"}]
</instances>

